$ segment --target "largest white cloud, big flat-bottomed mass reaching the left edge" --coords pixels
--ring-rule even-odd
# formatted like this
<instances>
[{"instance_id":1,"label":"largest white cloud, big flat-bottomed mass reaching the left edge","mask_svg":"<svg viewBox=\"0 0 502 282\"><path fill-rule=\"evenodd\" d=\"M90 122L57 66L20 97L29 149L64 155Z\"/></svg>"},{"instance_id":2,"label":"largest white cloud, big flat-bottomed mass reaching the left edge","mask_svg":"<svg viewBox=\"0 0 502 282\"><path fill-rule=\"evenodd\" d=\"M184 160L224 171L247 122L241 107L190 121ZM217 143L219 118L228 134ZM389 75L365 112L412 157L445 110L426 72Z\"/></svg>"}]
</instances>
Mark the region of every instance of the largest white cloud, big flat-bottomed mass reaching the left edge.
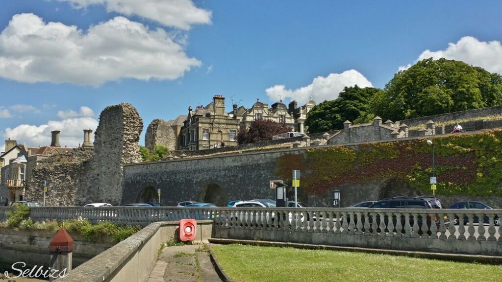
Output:
<instances>
[{"instance_id":1,"label":"largest white cloud, big flat-bottomed mass reaching the left edge","mask_svg":"<svg viewBox=\"0 0 502 282\"><path fill-rule=\"evenodd\" d=\"M134 78L176 79L201 62L163 29L115 17L84 33L76 26L15 15L0 34L0 77L98 86Z\"/></svg>"}]
</instances>

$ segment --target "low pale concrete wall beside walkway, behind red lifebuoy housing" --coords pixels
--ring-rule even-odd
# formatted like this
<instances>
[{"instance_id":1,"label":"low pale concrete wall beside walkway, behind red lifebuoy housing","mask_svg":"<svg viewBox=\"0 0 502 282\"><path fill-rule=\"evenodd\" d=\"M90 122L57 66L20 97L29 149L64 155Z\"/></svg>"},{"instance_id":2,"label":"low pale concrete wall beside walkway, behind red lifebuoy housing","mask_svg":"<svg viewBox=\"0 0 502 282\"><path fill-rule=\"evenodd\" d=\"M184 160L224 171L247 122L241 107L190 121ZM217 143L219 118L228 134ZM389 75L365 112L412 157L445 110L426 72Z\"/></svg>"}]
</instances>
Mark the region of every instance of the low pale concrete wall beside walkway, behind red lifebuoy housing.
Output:
<instances>
[{"instance_id":1,"label":"low pale concrete wall beside walkway, behind red lifebuoy housing","mask_svg":"<svg viewBox=\"0 0 502 282\"><path fill-rule=\"evenodd\" d=\"M178 224L177 221L152 223L56 281L146 281L157 262L161 244L177 238ZM197 221L196 241L207 242L212 226L212 220Z\"/></svg>"}]
</instances>

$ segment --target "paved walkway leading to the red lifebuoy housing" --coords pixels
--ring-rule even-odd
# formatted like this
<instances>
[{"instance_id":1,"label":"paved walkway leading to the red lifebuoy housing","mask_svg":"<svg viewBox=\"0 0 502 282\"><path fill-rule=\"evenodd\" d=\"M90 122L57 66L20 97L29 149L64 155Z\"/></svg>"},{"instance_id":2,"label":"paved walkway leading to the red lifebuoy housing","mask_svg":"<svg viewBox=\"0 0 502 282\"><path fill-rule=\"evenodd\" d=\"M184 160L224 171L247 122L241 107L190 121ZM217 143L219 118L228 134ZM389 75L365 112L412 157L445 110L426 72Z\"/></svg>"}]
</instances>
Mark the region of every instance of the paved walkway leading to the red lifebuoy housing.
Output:
<instances>
[{"instance_id":1,"label":"paved walkway leading to the red lifebuoy housing","mask_svg":"<svg viewBox=\"0 0 502 282\"><path fill-rule=\"evenodd\" d=\"M166 247L148 282L221 282L204 245Z\"/></svg>"}]
</instances>

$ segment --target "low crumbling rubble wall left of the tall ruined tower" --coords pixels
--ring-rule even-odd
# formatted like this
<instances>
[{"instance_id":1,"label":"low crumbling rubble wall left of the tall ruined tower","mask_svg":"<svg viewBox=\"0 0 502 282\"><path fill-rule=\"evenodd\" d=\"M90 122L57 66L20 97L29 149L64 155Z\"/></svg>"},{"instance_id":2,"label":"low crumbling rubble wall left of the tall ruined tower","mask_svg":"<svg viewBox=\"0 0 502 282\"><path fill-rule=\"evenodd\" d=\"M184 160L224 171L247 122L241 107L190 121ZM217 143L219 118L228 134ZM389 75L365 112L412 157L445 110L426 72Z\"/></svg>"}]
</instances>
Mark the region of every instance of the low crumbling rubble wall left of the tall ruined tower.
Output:
<instances>
[{"instance_id":1,"label":"low crumbling rubble wall left of the tall ruined tower","mask_svg":"<svg viewBox=\"0 0 502 282\"><path fill-rule=\"evenodd\" d=\"M31 170L25 190L25 199L43 203L44 181L49 181L46 193L48 206L75 205L77 191L82 186L81 176L85 174L85 163L92 159L92 149L75 149L71 152L55 154L43 160L28 164ZM38 165L36 165L38 163Z\"/></svg>"}]
</instances>

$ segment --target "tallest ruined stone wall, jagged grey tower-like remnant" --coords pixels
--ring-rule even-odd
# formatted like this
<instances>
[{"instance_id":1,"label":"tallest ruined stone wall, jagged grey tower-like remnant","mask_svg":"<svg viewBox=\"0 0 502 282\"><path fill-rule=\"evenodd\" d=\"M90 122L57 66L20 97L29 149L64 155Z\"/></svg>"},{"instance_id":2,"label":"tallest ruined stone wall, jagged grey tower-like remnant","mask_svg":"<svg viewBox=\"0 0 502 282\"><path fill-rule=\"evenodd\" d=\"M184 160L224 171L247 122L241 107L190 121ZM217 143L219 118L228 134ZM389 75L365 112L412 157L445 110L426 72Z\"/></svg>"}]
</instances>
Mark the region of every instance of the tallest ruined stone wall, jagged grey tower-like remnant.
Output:
<instances>
[{"instance_id":1,"label":"tallest ruined stone wall, jagged grey tower-like remnant","mask_svg":"<svg viewBox=\"0 0 502 282\"><path fill-rule=\"evenodd\" d=\"M119 204L122 166L142 161L139 144L142 130L143 119L131 104L108 106L101 112L94 136L94 157L84 167L77 204Z\"/></svg>"}]
</instances>

